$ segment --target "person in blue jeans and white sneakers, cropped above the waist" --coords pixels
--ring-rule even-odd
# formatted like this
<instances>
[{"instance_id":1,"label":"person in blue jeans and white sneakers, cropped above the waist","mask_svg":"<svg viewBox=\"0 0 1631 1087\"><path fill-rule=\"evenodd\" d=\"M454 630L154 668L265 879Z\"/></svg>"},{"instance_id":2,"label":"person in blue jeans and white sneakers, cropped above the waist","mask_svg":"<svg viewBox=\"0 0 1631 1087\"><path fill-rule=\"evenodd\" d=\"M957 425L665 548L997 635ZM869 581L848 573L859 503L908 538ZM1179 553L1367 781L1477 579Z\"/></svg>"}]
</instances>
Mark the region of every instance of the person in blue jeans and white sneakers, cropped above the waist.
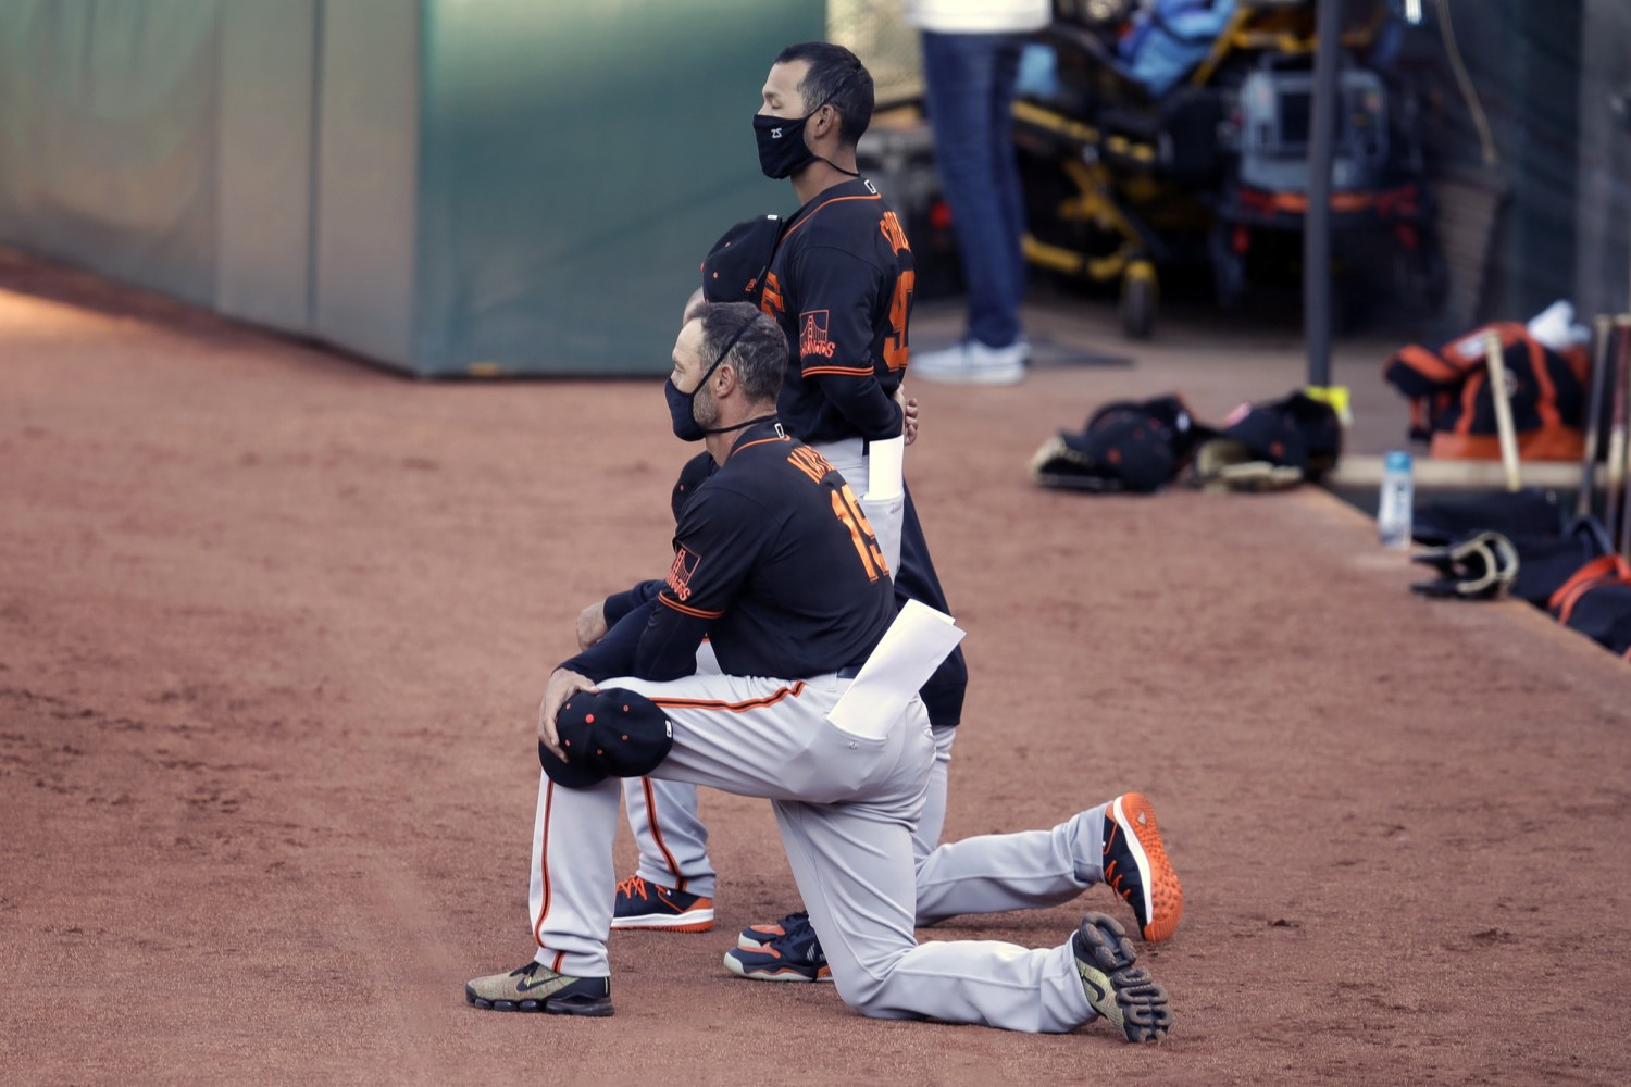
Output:
<instances>
[{"instance_id":1,"label":"person in blue jeans and white sneakers, cropped above the waist","mask_svg":"<svg viewBox=\"0 0 1631 1087\"><path fill-rule=\"evenodd\" d=\"M905 0L923 33L923 93L935 130L969 328L962 341L913 359L926 381L1024 380L1024 199L1014 161L1013 103L1024 36L1047 26L1049 0Z\"/></svg>"}]
</instances>

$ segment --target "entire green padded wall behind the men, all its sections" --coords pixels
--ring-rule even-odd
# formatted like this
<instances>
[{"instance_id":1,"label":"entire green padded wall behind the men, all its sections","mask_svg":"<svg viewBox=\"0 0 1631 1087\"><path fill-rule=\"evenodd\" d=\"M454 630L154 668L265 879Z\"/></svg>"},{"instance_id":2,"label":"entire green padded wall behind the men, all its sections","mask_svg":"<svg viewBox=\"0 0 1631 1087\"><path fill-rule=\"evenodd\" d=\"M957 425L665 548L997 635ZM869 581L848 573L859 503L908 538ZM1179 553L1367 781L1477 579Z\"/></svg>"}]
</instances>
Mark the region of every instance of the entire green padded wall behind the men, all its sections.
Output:
<instances>
[{"instance_id":1,"label":"entire green padded wall behind the men, all its sections","mask_svg":"<svg viewBox=\"0 0 1631 1087\"><path fill-rule=\"evenodd\" d=\"M667 370L822 0L5 0L0 243L418 375Z\"/></svg>"}]
</instances>

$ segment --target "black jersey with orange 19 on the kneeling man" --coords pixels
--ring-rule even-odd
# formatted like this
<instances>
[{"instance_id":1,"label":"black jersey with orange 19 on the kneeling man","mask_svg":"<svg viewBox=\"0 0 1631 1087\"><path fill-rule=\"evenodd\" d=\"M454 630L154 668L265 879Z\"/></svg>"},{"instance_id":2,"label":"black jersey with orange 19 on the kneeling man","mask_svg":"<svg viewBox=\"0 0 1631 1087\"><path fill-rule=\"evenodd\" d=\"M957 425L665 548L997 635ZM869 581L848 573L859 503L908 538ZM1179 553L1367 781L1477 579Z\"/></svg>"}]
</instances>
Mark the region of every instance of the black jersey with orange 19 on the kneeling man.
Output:
<instances>
[{"instance_id":1,"label":"black jersey with orange 19 on the kneeling man","mask_svg":"<svg viewBox=\"0 0 1631 1087\"><path fill-rule=\"evenodd\" d=\"M561 667L597 681L685 676L706 634L726 675L816 676L863 663L894 618L855 492L820 453L763 422L685 505L633 660L625 619Z\"/></svg>"}]
</instances>

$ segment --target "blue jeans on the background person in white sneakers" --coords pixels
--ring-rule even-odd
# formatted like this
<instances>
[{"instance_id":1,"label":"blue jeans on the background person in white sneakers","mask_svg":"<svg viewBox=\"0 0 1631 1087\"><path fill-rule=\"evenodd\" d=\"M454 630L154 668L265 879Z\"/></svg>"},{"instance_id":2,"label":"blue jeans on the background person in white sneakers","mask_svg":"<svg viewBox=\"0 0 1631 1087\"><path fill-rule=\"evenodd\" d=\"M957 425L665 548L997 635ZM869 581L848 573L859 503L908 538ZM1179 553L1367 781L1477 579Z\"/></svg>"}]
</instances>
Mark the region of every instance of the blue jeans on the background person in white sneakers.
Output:
<instances>
[{"instance_id":1,"label":"blue jeans on the background person in white sneakers","mask_svg":"<svg viewBox=\"0 0 1631 1087\"><path fill-rule=\"evenodd\" d=\"M935 155L969 285L969 336L987 347L1019 337L1024 204L1013 108L1019 34L923 31L923 83Z\"/></svg>"}]
</instances>

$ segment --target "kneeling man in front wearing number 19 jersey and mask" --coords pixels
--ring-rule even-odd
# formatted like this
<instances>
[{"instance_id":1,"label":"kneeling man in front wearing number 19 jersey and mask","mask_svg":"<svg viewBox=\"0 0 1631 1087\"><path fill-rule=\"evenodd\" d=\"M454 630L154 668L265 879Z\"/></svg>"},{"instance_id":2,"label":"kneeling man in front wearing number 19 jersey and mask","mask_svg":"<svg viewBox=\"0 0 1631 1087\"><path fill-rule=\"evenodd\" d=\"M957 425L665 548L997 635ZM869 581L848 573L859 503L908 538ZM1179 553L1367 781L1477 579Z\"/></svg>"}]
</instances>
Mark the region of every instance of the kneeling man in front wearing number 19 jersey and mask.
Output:
<instances>
[{"instance_id":1,"label":"kneeling man in front wearing number 19 jersey and mask","mask_svg":"<svg viewBox=\"0 0 1631 1087\"><path fill-rule=\"evenodd\" d=\"M621 787L605 774L649 772L771 800L838 994L864 1015L1050 1033L1103 1015L1127 1041L1161 1040L1166 992L1103 914L1052 948L915 944L910 828L933 761L928 717L913 698L877 722L882 738L827 720L889 629L894 590L850 486L776 419L786 365L785 337L750 305L711 306L680 331L664 389L674 430L703 438L719 468L685 505L633 642L615 629L550 676L528 896L537 952L471 979L466 1001L612 1014ZM692 675L705 634L721 675Z\"/></svg>"}]
</instances>

